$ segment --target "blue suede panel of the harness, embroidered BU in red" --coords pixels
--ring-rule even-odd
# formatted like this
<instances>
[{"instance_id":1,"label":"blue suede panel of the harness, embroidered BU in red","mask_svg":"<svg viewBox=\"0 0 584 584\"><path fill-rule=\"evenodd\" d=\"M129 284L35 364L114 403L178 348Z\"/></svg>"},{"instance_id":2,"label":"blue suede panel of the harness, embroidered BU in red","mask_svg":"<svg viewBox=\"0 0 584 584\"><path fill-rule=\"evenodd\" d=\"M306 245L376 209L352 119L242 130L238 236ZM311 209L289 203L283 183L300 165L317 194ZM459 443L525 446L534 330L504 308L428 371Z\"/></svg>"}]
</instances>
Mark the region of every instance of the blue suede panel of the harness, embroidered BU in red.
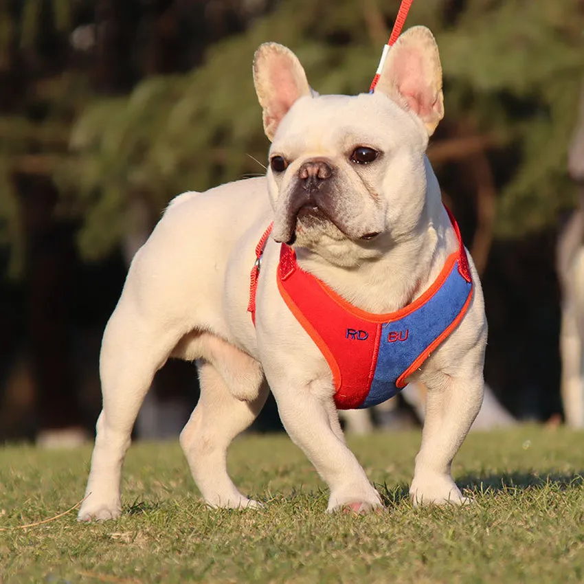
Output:
<instances>
[{"instance_id":1,"label":"blue suede panel of the harness, embroidered BU in red","mask_svg":"<svg viewBox=\"0 0 584 584\"><path fill-rule=\"evenodd\" d=\"M396 381L454 322L467 302L472 284L455 263L442 287L413 313L382 325L377 366L371 388L359 407L372 407L400 390Z\"/></svg>"}]
</instances>

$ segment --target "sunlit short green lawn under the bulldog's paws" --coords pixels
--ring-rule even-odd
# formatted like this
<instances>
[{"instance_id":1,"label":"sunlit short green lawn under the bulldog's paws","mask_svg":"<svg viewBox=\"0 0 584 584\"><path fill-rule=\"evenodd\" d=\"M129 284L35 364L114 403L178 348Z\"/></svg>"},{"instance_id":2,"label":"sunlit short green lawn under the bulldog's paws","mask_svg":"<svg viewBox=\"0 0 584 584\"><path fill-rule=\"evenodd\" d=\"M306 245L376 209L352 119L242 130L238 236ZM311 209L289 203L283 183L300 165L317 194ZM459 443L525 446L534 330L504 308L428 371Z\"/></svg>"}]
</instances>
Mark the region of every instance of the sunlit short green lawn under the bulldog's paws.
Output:
<instances>
[{"instance_id":1,"label":"sunlit short green lawn under the bulldog's paws","mask_svg":"<svg viewBox=\"0 0 584 584\"><path fill-rule=\"evenodd\" d=\"M521 427L471 434L455 460L466 508L413 508L417 432L350 440L388 512L325 513L324 484L287 436L246 436L229 466L261 510L201 504L176 442L136 444L124 513L75 513L0 532L0 581L582 582L584 434ZM0 449L0 527L56 515L85 488L90 449Z\"/></svg>"}]
</instances>

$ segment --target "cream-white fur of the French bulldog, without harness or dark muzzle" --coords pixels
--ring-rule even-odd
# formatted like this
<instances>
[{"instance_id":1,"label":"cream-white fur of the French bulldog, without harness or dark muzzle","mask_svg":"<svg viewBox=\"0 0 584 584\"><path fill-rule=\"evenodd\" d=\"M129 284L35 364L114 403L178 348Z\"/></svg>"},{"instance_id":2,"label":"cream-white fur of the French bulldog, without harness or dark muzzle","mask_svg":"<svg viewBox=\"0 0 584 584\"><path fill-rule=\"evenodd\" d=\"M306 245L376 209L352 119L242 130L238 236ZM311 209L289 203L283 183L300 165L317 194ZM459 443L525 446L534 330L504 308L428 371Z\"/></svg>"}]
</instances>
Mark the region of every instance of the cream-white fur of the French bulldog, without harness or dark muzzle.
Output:
<instances>
[{"instance_id":1,"label":"cream-white fur of the French bulldog, without harness or dark muzzle","mask_svg":"<svg viewBox=\"0 0 584 584\"><path fill-rule=\"evenodd\" d=\"M293 54L273 45L260 51L267 53L256 63L269 64L273 51L286 76L282 55L285 61L294 60ZM299 78L296 62L289 69L287 99ZM80 519L120 514L120 473L132 425L155 371L171 355L199 363L201 398L181 445L208 504L257 504L234 486L225 458L229 442L265 401L265 377L284 427L330 488L328 509L364 512L381 506L346 446L330 369L278 293L280 245L273 239L262 259L256 328L251 323L246 308L254 248L270 221L275 231L289 229L285 200L294 196L297 168L314 157L325 157L335 179L343 177L333 189L339 214L317 226L297 221L299 262L359 308L390 312L412 302L434 282L457 241L425 157L428 133L421 120L381 92L309 97L304 82L300 85L297 100L280 117L271 104L277 80L258 88L262 105L270 109L271 155L284 153L290 160L284 175L275 177L270 170L267 178L181 195L133 260L104 333L104 406L87 484L91 495ZM357 168L347 156L363 144L383 156ZM359 238L371 231L379 236ZM414 502L464 501L450 467L480 409L486 344L480 282L472 265L471 270L475 291L467 315L409 379L428 388L410 489Z\"/></svg>"}]
</instances>

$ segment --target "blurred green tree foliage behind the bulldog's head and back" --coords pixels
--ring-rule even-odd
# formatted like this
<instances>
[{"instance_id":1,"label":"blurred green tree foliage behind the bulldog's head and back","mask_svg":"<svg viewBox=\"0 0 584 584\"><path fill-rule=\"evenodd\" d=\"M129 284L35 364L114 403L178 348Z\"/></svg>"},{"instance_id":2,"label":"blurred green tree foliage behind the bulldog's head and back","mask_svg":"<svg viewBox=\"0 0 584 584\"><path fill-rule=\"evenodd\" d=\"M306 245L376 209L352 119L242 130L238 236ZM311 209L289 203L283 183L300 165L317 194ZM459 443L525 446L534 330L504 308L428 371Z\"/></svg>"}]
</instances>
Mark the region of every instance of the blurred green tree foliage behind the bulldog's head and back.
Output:
<instances>
[{"instance_id":1,"label":"blurred green tree foliage behind the bulldog's head and back","mask_svg":"<svg viewBox=\"0 0 584 584\"><path fill-rule=\"evenodd\" d=\"M207 2L207 10L221 4L224 16L237 14L239 32L218 34L220 40L206 45L199 58L191 50L191 58L175 67L130 63L125 82L106 88L104 96L91 71L91 60L104 50L98 29L91 19L81 24L88 20L84 5L95 16L100 4L108 3L27 0L20 9L12 3L12 10L5 3L1 38L12 59L42 61L47 38L69 43L60 63L39 65L37 78L0 117L1 135L9 138L0 149L0 241L12 246L14 268L22 258L15 171L54 179L58 213L82 225L82 255L100 258L120 243L133 197L148 201L156 215L179 192L262 172L254 159L265 160L268 144L250 71L260 43L292 47L317 91L366 91L398 8L390 0ZM168 20L167 36L186 54L191 44L200 44L188 38L196 14L179 22L193 4L177 3L180 10L158 15ZM139 2L128 5L139 14ZM120 20L122 26L129 19ZM461 127L485 138L499 199L497 236L554 224L557 210L574 196L565 159L584 72L581 2L418 1L407 24L420 23L436 34L445 74L447 113L436 139ZM83 45L83 27L95 37L93 45L91 38ZM152 43L145 38L148 25L139 27L146 30L134 30L138 43ZM10 58L0 63L14 67Z\"/></svg>"}]
</instances>

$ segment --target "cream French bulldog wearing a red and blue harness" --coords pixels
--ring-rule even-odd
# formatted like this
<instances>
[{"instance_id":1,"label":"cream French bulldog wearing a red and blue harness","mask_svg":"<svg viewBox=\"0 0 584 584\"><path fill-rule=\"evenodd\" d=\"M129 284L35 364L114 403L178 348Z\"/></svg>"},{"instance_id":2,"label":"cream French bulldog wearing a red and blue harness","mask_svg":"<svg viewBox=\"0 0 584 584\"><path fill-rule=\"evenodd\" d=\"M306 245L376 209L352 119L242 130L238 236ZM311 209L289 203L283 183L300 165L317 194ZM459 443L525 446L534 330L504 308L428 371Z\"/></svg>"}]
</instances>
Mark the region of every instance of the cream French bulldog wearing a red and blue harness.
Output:
<instances>
[{"instance_id":1,"label":"cream French bulldog wearing a red and blue harness","mask_svg":"<svg viewBox=\"0 0 584 584\"><path fill-rule=\"evenodd\" d=\"M120 515L132 426L169 357L198 366L201 397L180 444L211 507L260 505L229 478L226 453L271 390L284 428L330 489L327 510L381 508L337 407L374 405L408 381L427 387L411 497L467 501L451 463L482 403L487 325L475 267L425 155L444 114L434 36L412 27L398 38L374 93L319 96L276 43L259 47L253 73L271 140L267 175L181 194L133 259L104 331L103 409L81 521ZM301 305L317 297L326 309L303 317ZM416 348L436 322L444 330ZM343 359L317 342L329 334ZM360 357L363 347L378 351L377 365Z\"/></svg>"}]
</instances>

